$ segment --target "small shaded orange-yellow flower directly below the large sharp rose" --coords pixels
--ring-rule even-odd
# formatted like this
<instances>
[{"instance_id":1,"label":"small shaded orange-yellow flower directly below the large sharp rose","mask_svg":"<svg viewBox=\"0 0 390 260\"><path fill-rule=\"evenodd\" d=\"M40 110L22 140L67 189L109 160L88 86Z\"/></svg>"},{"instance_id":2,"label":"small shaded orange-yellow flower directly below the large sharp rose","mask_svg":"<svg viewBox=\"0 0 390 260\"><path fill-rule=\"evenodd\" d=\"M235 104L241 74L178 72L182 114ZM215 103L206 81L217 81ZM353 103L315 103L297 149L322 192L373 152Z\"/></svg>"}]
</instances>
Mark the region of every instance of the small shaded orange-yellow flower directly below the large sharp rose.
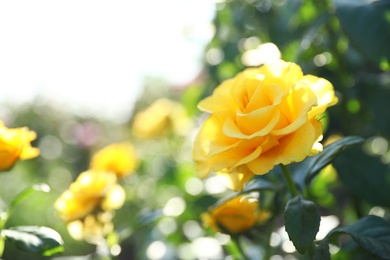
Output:
<instances>
[{"instance_id":1,"label":"small shaded orange-yellow flower directly below the large sharp rose","mask_svg":"<svg viewBox=\"0 0 390 260\"><path fill-rule=\"evenodd\" d=\"M269 216L268 211L259 210L257 199L240 195L202 214L202 220L215 231L237 234L264 223Z\"/></svg>"}]
</instances>

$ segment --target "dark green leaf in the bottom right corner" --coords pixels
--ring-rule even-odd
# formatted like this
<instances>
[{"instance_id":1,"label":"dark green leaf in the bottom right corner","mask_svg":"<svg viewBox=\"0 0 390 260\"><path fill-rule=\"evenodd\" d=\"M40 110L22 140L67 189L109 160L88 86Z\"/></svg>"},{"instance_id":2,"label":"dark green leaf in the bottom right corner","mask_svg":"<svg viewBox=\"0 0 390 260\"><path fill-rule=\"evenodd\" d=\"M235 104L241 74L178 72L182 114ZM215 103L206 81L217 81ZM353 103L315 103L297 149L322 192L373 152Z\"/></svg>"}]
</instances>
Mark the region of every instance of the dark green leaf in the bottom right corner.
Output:
<instances>
[{"instance_id":1,"label":"dark green leaf in the bottom right corner","mask_svg":"<svg viewBox=\"0 0 390 260\"><path fill-rule=\"evenodd\" d=\"M348 234L362 248L384 259L390 256L390 223L377 216L367 216L347 227L333 229L328 237L335 243Z\"/></svg>"}]
</instances>

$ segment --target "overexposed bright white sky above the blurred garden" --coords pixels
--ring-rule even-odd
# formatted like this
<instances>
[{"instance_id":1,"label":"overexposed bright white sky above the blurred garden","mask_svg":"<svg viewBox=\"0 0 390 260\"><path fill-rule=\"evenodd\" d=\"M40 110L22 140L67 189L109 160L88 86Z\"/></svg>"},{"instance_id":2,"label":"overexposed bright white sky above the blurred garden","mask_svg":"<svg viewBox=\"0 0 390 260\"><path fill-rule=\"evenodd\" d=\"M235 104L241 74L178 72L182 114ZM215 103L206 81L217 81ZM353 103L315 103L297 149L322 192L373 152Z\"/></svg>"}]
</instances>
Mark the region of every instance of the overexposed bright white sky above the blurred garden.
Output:
<instances>
[{"instance_id":1,"label":"overexposed bright white sky above the blurred garden","mask_svg":"<svg viewBox=\"0 0 390 260\"><path fill-rule=\"evenodd\" d=\"M144 76L185 84L212 37L214 1L0 2L0 102L39 95L120 120Z\"/></svg>"}]
</instances>

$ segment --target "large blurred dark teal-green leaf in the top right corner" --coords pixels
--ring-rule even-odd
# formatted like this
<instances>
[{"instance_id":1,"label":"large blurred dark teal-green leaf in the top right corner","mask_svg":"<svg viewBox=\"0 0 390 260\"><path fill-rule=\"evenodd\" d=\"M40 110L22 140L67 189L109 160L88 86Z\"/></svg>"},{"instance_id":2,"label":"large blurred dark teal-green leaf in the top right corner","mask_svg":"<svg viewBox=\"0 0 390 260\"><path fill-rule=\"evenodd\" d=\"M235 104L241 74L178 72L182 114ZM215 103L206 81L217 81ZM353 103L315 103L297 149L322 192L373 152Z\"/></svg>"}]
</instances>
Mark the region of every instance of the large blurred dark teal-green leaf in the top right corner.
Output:
<instances>
[{"instance_id":1,"label":"large blurred dark teal-green leaf in the top right corner","mask_svg":"<svg viewBox=\"0 0 390 260\"><path fill-rule=\"evenodd\" d=\"M334 2L336 16L352 45L377 65L390 60L390 1Z\"/></svg>"}]
</instances>

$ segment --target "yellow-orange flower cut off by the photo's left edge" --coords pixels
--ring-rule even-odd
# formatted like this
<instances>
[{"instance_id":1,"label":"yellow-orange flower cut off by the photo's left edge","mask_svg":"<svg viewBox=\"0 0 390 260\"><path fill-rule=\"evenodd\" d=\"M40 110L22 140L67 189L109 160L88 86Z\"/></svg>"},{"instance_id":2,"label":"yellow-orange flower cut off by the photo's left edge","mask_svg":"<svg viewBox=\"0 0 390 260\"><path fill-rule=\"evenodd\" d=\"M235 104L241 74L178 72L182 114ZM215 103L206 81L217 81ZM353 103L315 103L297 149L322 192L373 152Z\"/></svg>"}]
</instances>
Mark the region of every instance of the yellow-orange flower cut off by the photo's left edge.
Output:
<instances>
[{"instance_id":1,"label":"yellow-orange flower cut off by the photo's left edge","mask_svg":"<svg viewBox=\"0 0 390 260\"><path fill-rule=\"evenodd\" d=\"M27 127L7 128L0 121L0 170L8 170L16 160L27 160L39 155L39 149L31 147L37 135Z\"/></svg>"}]
</instances>

